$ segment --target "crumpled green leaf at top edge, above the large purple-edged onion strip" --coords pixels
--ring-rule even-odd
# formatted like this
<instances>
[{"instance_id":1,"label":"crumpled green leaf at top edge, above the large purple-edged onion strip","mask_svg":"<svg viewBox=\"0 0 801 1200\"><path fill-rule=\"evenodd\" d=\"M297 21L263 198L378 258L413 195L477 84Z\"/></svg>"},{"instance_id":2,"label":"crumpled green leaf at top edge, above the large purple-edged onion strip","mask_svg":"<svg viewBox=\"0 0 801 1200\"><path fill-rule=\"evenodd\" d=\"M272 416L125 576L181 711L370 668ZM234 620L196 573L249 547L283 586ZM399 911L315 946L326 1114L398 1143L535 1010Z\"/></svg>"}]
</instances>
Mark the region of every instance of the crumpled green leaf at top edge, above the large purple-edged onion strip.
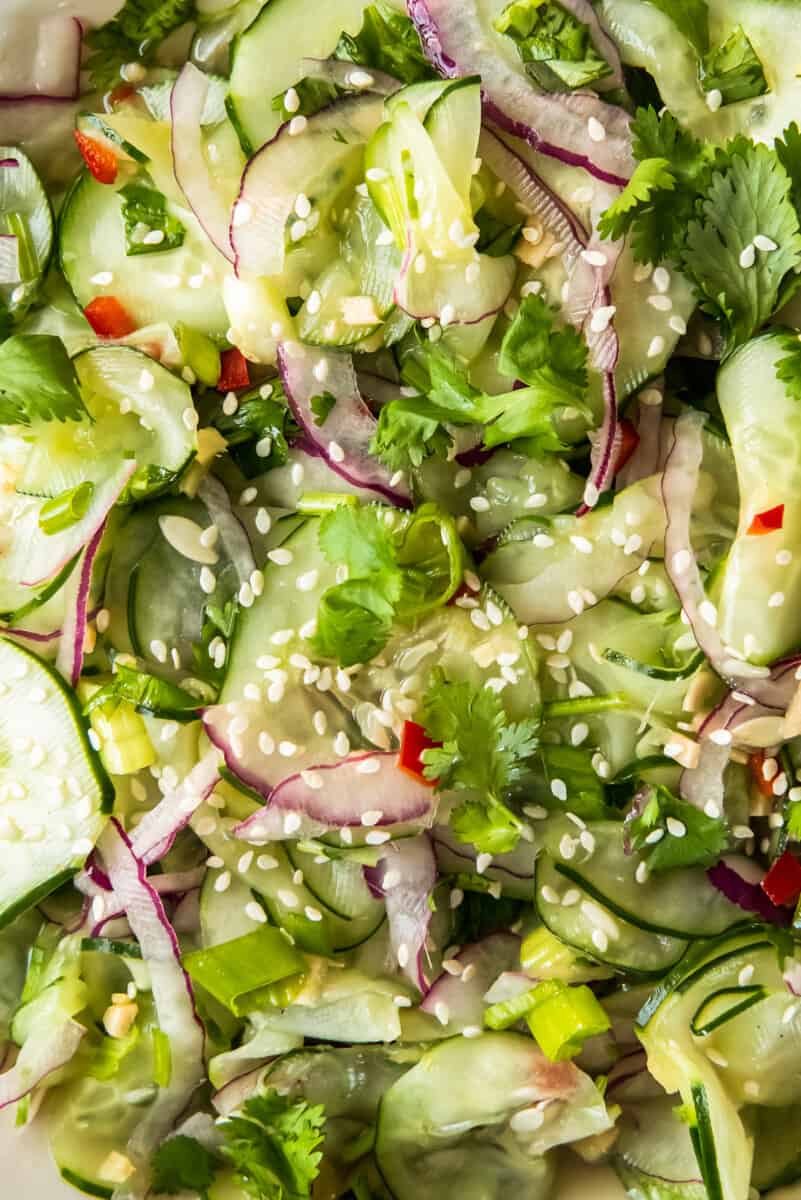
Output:
<instances>
[{"instance_id":1,"label":"crumpled green leaf at top edge, above the large purple-edged onion strip","mask_svg":"<svg viewBox=\"0 0 801 1200\"><path fill-rule=\"evenodd\" d=\"M526 71L548 91L588 88L612 73L589 28L556 0L514 0L495 29L514 41Z\"/></svg>"}]
</instances>

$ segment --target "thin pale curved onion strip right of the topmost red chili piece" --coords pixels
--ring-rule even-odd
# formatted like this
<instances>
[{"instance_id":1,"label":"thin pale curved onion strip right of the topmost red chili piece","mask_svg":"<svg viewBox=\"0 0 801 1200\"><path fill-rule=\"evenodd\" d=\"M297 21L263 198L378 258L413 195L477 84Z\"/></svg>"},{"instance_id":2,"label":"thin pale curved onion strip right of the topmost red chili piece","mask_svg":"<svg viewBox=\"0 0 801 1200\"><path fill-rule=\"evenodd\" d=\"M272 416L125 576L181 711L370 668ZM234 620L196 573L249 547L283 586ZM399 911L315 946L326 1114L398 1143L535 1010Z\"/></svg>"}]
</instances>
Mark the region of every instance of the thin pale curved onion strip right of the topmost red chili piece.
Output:
<instances>
[{"instance_id":1,"label":"thin pale curved onion strip right of the topmost red chili piece","mask_svg":"<svg viewBox=\"0 0 801 1200\"><path fill-rule=\"evenodd\" d=\"M171 148L175 179L209 240L234 262L230 205L219 194L203 151L200 118L209 95L209 77L187 62L170 95Z\"/></svg>"}]
</instances>

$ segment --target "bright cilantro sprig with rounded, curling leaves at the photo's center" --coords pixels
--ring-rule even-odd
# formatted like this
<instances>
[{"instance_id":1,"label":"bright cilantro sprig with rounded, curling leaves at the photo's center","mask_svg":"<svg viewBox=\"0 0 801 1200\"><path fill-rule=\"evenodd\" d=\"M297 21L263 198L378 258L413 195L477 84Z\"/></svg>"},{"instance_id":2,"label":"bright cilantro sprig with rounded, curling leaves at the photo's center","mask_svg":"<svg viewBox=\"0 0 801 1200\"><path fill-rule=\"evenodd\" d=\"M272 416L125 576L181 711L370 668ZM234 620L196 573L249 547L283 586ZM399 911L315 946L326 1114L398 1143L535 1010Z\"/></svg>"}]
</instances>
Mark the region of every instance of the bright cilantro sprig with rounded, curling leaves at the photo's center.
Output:
<instances>
[{"instance_id":1,"label":"bright cilantro sprig with rounded, curling leaves at the photo's center","mask_svg":"<svg viewBox=\"0 0 801 1200\"><path fill-rule=\"evenodd\" d=\"M323 594L314 647L343 666L368 662L396 619L446 604L462 582L462 542L434 504L403 517L378 505L339 505L321 520L319 544L349 577Z\"/></svg>"}]
</instances>

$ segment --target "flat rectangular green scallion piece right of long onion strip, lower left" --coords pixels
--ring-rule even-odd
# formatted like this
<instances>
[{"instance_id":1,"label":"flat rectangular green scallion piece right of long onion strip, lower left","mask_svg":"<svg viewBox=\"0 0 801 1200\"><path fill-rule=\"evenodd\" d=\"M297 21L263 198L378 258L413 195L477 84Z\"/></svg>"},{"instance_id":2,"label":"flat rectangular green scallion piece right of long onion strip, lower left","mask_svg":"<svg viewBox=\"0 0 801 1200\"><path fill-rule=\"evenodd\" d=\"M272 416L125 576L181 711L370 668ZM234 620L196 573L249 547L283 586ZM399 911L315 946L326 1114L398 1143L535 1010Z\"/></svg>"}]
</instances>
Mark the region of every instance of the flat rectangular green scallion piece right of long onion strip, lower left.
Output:
<instances>
[{"instance_id":1,"label":"flat rectangular green scallion piece right of long onion strip, lower left","mask_svg":"<svg viewBox=\"0 0 801 1200\"><path fill-rule=\"evenodd\" d=\"M264 990L271 984L302 974L306 959L279 929L263 925L253 934L187 954L183 967L234 1016L246 1016L264 1003Z\"/></svg>"}]
</instances>

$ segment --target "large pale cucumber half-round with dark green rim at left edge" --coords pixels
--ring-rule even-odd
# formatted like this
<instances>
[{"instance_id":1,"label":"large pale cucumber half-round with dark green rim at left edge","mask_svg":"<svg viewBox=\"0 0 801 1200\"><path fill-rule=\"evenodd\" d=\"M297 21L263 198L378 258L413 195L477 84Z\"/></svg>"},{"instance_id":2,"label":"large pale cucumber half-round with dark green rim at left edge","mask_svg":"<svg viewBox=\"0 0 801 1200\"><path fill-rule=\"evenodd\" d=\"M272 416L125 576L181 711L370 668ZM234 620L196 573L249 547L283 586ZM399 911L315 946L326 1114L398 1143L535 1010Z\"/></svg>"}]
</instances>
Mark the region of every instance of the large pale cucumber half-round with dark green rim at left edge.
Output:
<instances>
[{"instance_id":1,"label":"large pale cucumber half-round with dark green rim at left edge","mask_svg":"<svg viewBox=\"0 0 801 1200\"><path fill-rule=\"evenodd\" d=\"M83 866L114 790L74 695L55 671L0 637L0 679L2 928ZM42 769L58 781L43 784Z\"/></svg>"}]
</instances>

